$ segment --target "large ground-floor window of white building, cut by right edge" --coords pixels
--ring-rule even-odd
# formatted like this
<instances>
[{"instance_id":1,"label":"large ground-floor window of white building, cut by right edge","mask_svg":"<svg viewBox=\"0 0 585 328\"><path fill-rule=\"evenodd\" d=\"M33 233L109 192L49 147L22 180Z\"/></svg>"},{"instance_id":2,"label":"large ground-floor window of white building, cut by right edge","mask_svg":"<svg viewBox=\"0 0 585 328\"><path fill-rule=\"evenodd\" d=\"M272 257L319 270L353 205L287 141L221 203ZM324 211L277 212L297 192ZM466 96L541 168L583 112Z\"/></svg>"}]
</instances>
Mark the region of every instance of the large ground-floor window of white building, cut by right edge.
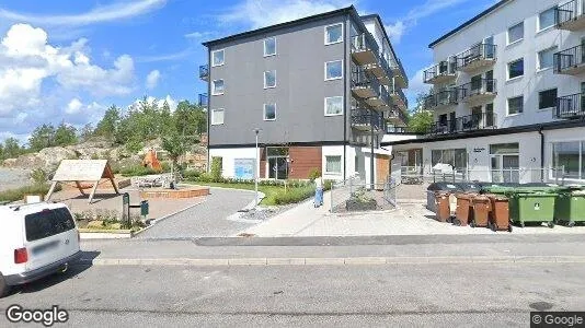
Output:
<instances>
[{"instance_id":1,"label":"large ground-floor window of white building, cut by right edge","mask_svg":"<svg viewBox=\"0 0 585 328\"><path fill-rule=\"evenodd\" d=\"M585 141L558 142L552 144L554 167L564 166L564 177L585 178ZM561 174L561 173L559 173Z\"/></svg>"}]
</instances>

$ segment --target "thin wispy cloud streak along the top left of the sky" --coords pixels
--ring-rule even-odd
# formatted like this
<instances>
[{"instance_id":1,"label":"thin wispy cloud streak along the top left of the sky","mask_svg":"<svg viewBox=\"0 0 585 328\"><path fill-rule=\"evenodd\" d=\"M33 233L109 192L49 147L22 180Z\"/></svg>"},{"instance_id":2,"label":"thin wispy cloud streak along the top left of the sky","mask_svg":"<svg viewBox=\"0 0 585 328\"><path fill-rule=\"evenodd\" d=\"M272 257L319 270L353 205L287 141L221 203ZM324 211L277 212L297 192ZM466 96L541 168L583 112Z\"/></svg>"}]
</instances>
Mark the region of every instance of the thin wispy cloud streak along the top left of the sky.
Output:
<instances>
[{"instance_id":1,"label":"thin wispy cloud streak along the top left of the sky","mask_svg":"<svg viewBox=\"0 0 585 328\"><path fill-rule=\"evenodd\" d=\"M73 15L35 15L18 13L0 8L0 17L13 22L28 22L41 25L81 26L142 15L164 7L165 3L167 0L117 2L108 5L101 5L90 10L89 12Z\"/></svg>"}]
</instances>

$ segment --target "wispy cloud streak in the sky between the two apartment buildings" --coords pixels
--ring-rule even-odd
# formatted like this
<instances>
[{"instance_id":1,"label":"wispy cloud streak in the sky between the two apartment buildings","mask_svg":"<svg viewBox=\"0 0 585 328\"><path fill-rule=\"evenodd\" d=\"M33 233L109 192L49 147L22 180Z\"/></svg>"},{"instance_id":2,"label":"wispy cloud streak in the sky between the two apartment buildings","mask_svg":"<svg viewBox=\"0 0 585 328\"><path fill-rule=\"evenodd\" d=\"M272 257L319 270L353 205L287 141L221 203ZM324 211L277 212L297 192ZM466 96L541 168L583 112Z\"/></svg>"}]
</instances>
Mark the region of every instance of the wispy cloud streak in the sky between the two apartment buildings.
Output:
<instances>
[{"instance_id":1,"label":"wispy cloud streak in the sky between the two apartment buildings","mask_svg":"<svg viewBox=\"0 0 585 328\"><path fill-rule=\"evenodd\" d=\"M409 28L416 26L418 20L467 1L469 0L427 0L425 3L411 9L403 19L386 25L386 31L393 43L400 43L402 36Z\"/></svg>"}]
</instances>

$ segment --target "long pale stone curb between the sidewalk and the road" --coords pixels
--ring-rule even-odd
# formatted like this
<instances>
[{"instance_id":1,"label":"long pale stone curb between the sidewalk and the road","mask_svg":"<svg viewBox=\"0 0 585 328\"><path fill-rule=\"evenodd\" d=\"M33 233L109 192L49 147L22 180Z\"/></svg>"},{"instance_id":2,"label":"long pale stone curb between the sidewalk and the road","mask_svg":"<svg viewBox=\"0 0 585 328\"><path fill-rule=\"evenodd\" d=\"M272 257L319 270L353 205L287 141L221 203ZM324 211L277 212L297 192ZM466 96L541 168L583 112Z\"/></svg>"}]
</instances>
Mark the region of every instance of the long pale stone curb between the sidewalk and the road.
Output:
<instances>
[{"instance_id":1,"label":"long pale stone curb between the sidewalk and the road","mask_svg":"<svg viewBox=\"0 0 585 328\"><path fill-rule=\"evenodd\" d=\"M79 263L104 266L184 266L184 267L269 267L269 266L380 266L458 263L585 263L585 256L446 256L446 257L351 257L351 258L151 258L84 259Z\"/></svg>"}]
</instances>

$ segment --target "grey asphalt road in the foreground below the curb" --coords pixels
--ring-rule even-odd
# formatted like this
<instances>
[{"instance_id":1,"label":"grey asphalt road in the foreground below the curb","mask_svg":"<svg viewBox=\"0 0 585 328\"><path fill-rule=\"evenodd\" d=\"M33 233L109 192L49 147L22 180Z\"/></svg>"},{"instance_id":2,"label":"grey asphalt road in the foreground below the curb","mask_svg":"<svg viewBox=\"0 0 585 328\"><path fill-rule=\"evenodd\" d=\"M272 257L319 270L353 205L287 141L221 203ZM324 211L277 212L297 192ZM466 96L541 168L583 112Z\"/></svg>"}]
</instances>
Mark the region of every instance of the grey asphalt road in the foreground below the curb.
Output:
<instances>
[{"instance_id":1,"label":"grey asphalt road in the foreground below the curb","mask_svg":"<svg viewBox=\"0 0 585 328\"><path fill-rule=\"evenodd\" d=\"M59 305L67 326L523 326L584 311L583 263L76 267L0 300Z\"/></svg>"}]
</instances>

